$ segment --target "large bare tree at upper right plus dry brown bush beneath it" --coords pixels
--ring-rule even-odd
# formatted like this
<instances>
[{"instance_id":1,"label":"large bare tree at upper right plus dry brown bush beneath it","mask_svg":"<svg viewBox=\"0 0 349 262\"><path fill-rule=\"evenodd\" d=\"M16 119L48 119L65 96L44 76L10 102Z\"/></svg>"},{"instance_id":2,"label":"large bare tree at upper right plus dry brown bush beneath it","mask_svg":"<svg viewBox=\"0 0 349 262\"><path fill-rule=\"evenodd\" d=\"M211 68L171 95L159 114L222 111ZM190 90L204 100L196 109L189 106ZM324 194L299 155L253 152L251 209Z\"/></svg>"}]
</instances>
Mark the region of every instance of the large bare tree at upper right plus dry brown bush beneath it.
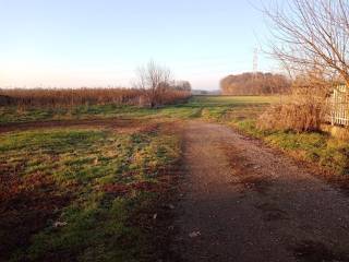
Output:
<instances>
[{"instance_id":1,"label":"large bare tree at upper right plus dry brown bush beneath it","mask_svg":"<svg viewBox=\"0 0 349 262\"><path fill-rule=\"evenodd\" d=\"M276 4L275 4L276 3ZM293 80L292 95L260 119L262 129L320 130L326 98L349 84L347 1L288 0L265 7L272 22L270 53Z\"/></svg>"}]
</instances>

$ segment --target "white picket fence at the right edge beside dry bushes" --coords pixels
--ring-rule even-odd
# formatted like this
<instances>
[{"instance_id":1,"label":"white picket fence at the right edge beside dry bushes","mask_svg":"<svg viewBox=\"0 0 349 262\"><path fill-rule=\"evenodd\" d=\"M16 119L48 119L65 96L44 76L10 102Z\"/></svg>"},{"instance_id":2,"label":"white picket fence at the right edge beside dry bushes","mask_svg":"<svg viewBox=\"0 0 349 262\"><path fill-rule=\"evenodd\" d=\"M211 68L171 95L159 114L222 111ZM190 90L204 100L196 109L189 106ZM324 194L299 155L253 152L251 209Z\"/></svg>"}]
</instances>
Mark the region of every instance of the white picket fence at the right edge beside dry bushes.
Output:
<instances>
[{"instance_id":1,"label":"white picket fence at the right edge beside dry bushes","mask_svg":"<svg viewBox=\"0 0 349 262\"><path fill-rule=\"evenodd\" d=\"M349 88L337 86L329 98L329 121L333 126L349 126Z\"/></svg>"}]
</instances>

